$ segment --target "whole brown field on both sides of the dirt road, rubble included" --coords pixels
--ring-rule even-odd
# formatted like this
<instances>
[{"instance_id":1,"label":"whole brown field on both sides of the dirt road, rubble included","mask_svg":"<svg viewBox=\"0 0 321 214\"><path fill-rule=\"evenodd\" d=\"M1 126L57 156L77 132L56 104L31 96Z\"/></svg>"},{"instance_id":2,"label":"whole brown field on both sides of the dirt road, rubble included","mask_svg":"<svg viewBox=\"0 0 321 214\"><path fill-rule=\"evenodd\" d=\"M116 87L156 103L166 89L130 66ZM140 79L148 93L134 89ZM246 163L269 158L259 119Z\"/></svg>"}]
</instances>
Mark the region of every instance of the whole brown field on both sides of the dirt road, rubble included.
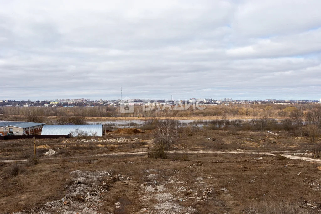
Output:
<instances>
[{"instance_id":1,"label":"whole brown field on both sides of the dirt road, rubble included","mask_svg":"<svg viewBox=\"0 0 321 214\"><path fill-rule=\"evenodd\" d=\"M255 154L91 156L146 151L153 139L153 132L39 139L37 165L33 139L0 141L0 160L30 160L17 176L15 163L0 163L0 213L321 213L317 163ZM285 133L182 130L171 150L311 148L311 139ZM39 159L49 149L73 158Z\"/></svg>"}]
</instances>

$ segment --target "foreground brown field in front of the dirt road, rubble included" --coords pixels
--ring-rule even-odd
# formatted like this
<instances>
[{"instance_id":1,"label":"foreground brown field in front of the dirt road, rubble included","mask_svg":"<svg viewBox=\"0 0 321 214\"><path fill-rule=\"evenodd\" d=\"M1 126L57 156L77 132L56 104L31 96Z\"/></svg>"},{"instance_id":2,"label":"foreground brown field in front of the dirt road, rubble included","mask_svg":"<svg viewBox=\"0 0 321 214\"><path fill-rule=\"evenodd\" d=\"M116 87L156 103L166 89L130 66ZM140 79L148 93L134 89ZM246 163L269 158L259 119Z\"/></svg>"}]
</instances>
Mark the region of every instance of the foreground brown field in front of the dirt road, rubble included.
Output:
<instances>
[{"instance_id":1,"label":"foreground brown field in front of the dirt road, rubble included","mask_svg":"<svg viewBox=\"0 0 321 214\"><path fill-rule=\"evenodd\" d=\"M259 213L272 213L259 210L263 209L261 204L275 205L282 199L289 201L279 208L283 212L320 211L300 208L304 201L320 203L321 172L315 163L265 156L260 159L249 154L194 154L184 161L176 160L178 156L172 154L166 160L113 157L95 163L39 163L26 166L26 172L16 177L8 173L13 164L2 164L0 182L5 188L0 190L0 212L82 213L89 209L90 213L255 213L251 207ZM113 171L113 175L101 177L99 183L86 183L88 179L82 176L72 175L76 181L70 177L75 170ZM85 184L85 191L70 189ZM87 192L92 198L87 198ZM64 205L61 198L68 204ZM54 206L47 204L51 201Z\"/></svg>"}]
</instances>

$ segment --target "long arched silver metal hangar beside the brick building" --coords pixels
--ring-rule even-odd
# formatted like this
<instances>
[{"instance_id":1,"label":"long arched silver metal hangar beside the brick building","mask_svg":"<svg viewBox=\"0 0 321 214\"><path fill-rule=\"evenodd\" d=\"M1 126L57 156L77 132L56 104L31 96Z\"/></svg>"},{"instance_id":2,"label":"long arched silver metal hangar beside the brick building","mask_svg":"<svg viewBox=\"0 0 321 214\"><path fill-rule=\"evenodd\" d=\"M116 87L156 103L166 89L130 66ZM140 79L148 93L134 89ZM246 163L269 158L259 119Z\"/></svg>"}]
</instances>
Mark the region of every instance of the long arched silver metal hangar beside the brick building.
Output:
<instances>
[{"instance_id":1,"label":"long arched silver metal hangar beside the brick building","mask_svg":"<svg viewBox=\"0 0 321 214\"><path fill-rule=\"evenodd\" d=\"M102 125L44 125L41 135L102 136Z\"/></svg>"}]
</instances>

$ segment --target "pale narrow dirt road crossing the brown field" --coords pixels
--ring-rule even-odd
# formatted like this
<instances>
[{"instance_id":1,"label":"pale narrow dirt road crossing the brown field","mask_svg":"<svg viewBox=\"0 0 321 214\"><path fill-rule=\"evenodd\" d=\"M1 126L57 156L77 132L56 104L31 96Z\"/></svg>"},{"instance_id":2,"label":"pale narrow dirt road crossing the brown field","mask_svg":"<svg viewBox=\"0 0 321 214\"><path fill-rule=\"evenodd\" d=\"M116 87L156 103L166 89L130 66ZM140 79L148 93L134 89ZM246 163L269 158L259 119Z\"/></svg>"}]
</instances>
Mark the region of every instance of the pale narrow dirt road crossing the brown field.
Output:
<instances>
[{"instance_id":1,"label":"pale narrow dirt road crossing the brown field","mask_svg":"<svg viewBox=\"0 0 321 214\"><path fill-rule=\"evenodd\" d=\"M169 153L199 153L199 154L258 154L258 155L271 155L275 156L278 152L284 151L273 151L272 152L254 152L254 151L168 151ZM123 156L123 155L144 155L148 154L148 151L139 151L139 152L115 152L115 153L107 153L107 154L99 154L99 155L90 155L90 156L78 156L78 157L64 157L64 158L40 158L40 160L54 160L54 159L70 159L70 158L90 158L90 157L105 157L105 156ZM307 158L307 157L299 157L293 155L283 155L285 158L290 158L293 160L304 160L309 162L317 162L321 163L320 159ZM9 162L27 162L27 159L24 160L0 160L0 163L9 163Z\"/></svg>"}]
</instances>

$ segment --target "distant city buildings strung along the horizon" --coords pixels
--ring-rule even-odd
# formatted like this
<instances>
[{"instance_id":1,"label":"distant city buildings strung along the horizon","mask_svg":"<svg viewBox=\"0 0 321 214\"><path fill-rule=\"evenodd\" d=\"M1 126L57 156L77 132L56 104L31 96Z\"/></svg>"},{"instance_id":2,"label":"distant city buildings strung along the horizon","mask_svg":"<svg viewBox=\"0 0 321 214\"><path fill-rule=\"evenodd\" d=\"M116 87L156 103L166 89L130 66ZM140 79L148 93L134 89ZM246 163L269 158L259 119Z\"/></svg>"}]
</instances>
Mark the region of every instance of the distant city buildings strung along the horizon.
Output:
<instances>
[{"instance_id":1,"label":"distant city buildings strung along the horizon","mask_svg":"<svg viewBox=\"0 0 321 214\"><path fill-rule=\"evenodd\" d=\"M117 99L117 100L90 100L85 98L80 99L54 99L54 100L0 100L0 106L15 106L15 107L73 107L73 106L119 106L119 105L146 105L157 102L160 105L176 105L199 103L203 105L230 105L230 104L321 104L320 100L277 100L277 99L265 99L265 100L238 100L232 98L212 99L212 98L190 98L188 100L173 100L168 99Z\"/></svg>"}]
</instances>

